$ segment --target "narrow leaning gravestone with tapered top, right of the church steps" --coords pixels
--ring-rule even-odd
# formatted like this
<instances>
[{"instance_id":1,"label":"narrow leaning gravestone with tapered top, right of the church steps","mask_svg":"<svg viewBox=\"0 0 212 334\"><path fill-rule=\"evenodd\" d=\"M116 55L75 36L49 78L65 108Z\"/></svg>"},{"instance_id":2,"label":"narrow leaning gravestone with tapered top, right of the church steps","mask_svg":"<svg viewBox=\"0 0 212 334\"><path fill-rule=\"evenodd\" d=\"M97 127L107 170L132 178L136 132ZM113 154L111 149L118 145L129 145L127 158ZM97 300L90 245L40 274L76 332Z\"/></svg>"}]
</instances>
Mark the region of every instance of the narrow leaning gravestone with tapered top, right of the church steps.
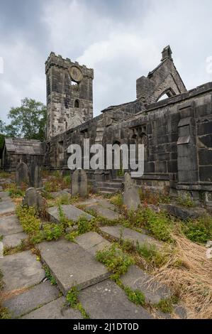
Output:
<instances>
[{"instance_id":1,"label":"narrow leaning gravestone with tapered top, right of the church steps","mask_svg":"<svg viewBox=\"0 0 212 334\"><path fill-rule=\"evenodd\" d=\"M129 173L125 173L124 179L123 204L128 210L137 210L138 205L140 205L138 188L133 183Z\"/></svg>"}]
</instances>

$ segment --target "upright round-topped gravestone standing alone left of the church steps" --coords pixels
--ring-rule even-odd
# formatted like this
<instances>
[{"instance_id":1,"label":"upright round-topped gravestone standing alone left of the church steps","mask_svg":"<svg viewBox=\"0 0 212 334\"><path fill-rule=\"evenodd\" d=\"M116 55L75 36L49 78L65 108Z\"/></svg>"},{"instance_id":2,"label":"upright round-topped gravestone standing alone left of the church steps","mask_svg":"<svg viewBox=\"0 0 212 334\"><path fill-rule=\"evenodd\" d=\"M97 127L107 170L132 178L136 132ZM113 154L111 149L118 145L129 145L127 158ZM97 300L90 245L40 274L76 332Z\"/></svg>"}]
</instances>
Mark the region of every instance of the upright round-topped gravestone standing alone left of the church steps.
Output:
<instances>
[{"instance_id":1,"label":"upright round-topped gravestone standing alone left of the church steps","mask_svg":"<svg viewBox=\"0 0 212 334\"><path fill-rule=\"evenodd\" d=\"M87 193L87 173L83 169L77 169L72 174L72 196L79 194L80 197L86 197Z\"/></svg>"}]
</instances>

